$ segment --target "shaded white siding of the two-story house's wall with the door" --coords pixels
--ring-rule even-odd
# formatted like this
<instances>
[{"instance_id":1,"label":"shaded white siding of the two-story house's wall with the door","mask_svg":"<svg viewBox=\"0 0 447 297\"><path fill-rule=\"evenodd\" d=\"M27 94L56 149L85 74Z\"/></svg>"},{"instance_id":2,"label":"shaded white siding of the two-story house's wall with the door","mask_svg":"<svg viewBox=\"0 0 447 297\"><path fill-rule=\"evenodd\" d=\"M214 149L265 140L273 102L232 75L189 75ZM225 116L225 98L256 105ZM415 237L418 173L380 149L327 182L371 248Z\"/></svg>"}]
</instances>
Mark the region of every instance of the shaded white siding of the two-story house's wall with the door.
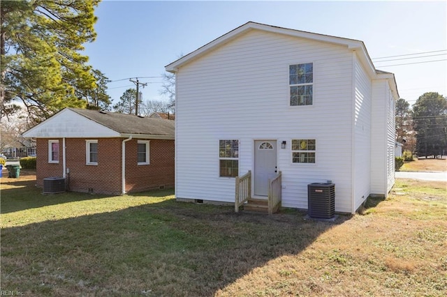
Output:
<instances>
[{"instance_id":1,"label":"shaded white siding of the two-story house's wall with the door","mask_svg":"<svg viewBox=\"0 0 447 297\"><path fill-rule=\"evenodd\" d=\"M314 104L303 108L289 102L288 66L297 61L314 66ZM277 153L282 205L307 208L307 184L332 180L336 211L350 213L351 70L346 47L257 30L180 68L176 197L234 202L234 179L219 178L217 142L239 139L242 175L254 171L254 140L276 139L287 142ZM291 139L316 139L318 163L293 164Z\"/></svg>"}]
</instances>

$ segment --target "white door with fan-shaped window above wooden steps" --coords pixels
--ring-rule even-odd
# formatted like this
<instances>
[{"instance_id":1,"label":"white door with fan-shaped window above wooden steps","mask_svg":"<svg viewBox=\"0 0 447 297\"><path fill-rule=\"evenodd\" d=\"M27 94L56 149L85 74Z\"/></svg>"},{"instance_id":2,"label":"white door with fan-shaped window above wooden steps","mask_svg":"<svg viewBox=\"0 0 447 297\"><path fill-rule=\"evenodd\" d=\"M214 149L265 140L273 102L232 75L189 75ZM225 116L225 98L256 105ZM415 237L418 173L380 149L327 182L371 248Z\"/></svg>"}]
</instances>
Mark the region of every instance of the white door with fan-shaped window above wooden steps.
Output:
<instances>
[{"instance_id":1,"label":"white door with fan-shaped window above wooden steps","mask_svg":"<svg viewBox=\"0 0 447 297\"><path fill-rule=\"evenodd\" d=\"M276 140L254 142L254 195L268 196L268 180L277 175Z\"/></svg>"}]
</instances>

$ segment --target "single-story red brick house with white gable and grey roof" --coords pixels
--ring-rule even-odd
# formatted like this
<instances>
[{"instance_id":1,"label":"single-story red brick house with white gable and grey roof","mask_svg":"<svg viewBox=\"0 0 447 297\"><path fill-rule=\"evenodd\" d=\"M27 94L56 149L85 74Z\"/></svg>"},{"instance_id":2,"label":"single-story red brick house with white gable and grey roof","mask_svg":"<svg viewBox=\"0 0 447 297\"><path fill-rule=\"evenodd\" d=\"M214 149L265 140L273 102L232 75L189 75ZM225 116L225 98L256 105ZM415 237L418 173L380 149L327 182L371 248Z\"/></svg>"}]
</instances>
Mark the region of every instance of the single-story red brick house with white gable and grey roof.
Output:
<instances>
[{"instance_id":1,"label":"single-story red brick house with white gable and grey roof","mask_svg":"<svg viewBox=\"0 0 447 297\"><path fill-rule=\"evenodd\" d=\"M66 108L24 137L37 139L37 185L65 177L69 190L124 194L174 185L174 121Z\"/></svg>"}]
</instances>

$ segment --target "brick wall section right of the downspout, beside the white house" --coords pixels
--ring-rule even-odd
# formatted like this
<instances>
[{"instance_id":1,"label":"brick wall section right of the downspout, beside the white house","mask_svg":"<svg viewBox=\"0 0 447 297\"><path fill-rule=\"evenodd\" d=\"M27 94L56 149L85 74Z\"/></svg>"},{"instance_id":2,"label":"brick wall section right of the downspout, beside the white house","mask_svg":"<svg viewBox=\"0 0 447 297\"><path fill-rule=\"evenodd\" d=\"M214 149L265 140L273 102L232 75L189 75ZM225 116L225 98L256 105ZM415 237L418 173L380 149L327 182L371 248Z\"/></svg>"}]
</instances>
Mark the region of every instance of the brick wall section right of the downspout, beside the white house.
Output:
<instances>
[{"instance_id":1,"label":"brick wall section right of the downspout, beside the white house","mask_svg":"<svg viewBox=\"0 0 447 297\"><path fill-rule=\"evenodd\" d=\"M138 165L137 142L126 142L126 192L173 188L174 140L149 140L149 165Z\"/></svg>"}]
</instances>

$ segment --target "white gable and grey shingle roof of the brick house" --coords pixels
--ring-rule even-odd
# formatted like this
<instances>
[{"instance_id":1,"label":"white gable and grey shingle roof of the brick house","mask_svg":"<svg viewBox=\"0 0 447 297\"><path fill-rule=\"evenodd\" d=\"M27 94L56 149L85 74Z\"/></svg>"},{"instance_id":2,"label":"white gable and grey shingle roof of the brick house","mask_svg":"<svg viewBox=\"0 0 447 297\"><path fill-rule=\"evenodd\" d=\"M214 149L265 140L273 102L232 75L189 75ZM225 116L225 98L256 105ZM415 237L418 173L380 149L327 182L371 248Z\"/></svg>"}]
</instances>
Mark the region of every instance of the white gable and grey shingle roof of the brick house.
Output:
<instances>
[{"instance_id":1,"label":"white gable and grey shingle roof of the brick house","mask_svg":"<svg viewBox=\"0 0 447 297\"><path fill-rule=\"evenodd\" d=\"M153 137L174 138L174 122L163 119L90 109L66 108L24 132L24 137L37 138L96 138Z\"/></svg>"}]
</instances>

